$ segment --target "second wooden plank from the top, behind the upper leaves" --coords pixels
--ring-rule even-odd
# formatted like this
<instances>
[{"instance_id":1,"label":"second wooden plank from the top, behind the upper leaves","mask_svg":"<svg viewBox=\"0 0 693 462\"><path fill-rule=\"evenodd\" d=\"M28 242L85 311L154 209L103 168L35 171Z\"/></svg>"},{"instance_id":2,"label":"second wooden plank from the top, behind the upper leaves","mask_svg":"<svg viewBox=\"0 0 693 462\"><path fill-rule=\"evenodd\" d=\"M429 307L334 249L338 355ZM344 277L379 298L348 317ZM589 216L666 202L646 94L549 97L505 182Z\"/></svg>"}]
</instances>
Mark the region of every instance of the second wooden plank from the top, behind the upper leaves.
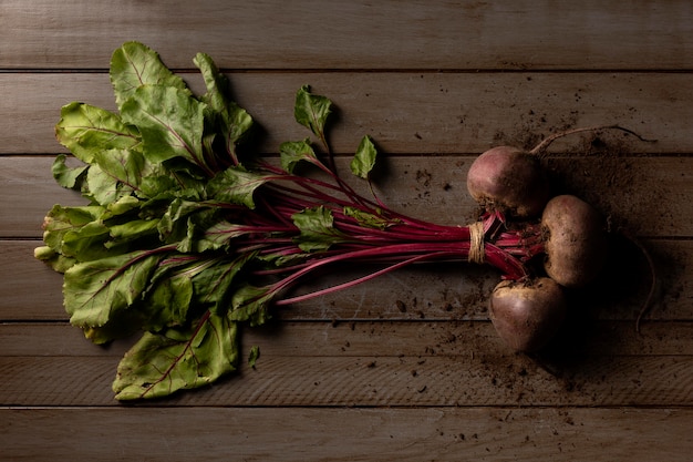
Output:
<instances>
[{"instance_id":1,"label":"second wooden plank from the top, behind the upper leaves","mask_svg":"<svg viewBox=\"0 0 693 462\"><path fill-rule=\"evenodd\" d=\"M185 75L198 94L204 83ZM235 99L262 127L259 151L302 140L293 120L296 91L310 84L338 107L332 148L353 153L364 134L385 153L480 153L498 143L534 144L566 127L619 123L656 143L628 143L624 152L691 153L687 120L693 83L686 73L426 73L239 72ZM114 110L104 73L0 73L0 153L61 150L54 125L60 107L82 101ZM560 146L575 150L580 137Z\"/></svg>"}]
</instances>

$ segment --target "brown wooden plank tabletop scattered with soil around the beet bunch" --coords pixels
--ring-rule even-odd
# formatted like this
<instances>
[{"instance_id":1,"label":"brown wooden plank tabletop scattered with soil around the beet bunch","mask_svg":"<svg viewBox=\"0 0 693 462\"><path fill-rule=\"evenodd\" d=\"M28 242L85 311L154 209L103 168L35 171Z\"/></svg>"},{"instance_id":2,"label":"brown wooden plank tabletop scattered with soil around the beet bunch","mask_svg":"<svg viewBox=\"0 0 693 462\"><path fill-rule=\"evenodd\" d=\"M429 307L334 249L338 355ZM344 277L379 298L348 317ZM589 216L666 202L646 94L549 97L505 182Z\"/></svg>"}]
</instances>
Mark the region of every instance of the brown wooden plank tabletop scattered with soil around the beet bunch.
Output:
<instances>
[{"instance_id":1,"label":"brown wooden plank tabletop scattered with soil around the beet bunch","mask_svg":"<svg viewBox=\"0 0 693 462\"><path fill-rule=\"evenodd\" d=\"M474 219L465 174L494 144L614 123L656 138L572 136L547 160L651 251L660 278L641 332L649 273L621 240L561 338L531 358L488 321L494 270L416 267L246 329L255 369L117 403L111 381L131 342L99 348L72 328L61 276L32 250L54 203L82 203L51 177L60 107L114 109L108 60L128 40L198 90L192 58L209 53L267 155L306 135L292 104L310 84L339 107L340 162L371 134L383 201L438 223ZM690 461L692 71L684 0L2 1L0 459Z\"/></svg>"}]
</instances>

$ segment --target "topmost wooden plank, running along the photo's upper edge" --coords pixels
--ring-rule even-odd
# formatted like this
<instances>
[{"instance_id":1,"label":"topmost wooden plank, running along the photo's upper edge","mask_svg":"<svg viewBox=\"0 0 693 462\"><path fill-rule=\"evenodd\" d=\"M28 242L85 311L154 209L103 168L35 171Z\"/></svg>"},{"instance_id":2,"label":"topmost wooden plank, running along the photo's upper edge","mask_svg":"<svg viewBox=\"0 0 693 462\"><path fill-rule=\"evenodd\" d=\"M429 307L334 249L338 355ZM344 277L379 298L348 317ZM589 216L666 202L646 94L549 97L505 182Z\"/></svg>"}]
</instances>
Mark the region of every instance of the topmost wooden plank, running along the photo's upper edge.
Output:
<instances>
[{"instance_id":1,"label":"topmost wooden plank, running along the photo's upper edge","mask_svg":"<svg viewBox=\"0 0 693 462\"><path fill-rule=\"evenodd\" d=\"M6 0L0 68L103 69L127 40L148 43L176 68L190 68L198 51L234 69L678 70L692 62L693 10L685 0L628 8L597 0L225 7Z\"/></svg>"}]
</instances>

